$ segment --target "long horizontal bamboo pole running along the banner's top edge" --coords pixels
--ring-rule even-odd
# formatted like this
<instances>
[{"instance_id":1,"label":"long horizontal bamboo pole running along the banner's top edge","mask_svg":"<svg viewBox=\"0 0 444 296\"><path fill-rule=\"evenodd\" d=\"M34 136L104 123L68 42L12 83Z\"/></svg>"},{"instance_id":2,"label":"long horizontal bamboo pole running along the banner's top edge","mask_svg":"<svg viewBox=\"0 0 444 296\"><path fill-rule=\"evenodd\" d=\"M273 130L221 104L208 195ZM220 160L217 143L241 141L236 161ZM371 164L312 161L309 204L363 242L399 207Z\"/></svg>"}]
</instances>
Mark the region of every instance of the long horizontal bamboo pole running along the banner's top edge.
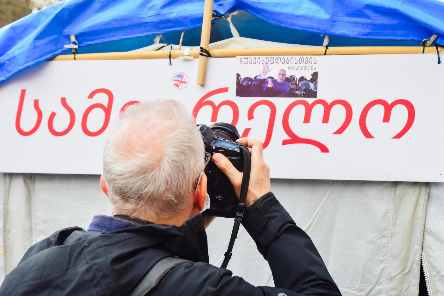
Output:
<instances>
[{"instance_id":1,"label":"long horizontal bamboo pole running along the banner's top edge","mask_svg":"<svg viewBox=\"0 0 444 296\"><path fill-rule=\"evenodd\" d=\"M443 47L440 47L442 51ZM240 55L324 55L325 47L278 47L278 48L224 48L210 49L210 54L217 58L230 58ZM425 47L424 53L436 52L435 47ZM357 46L329 47L327 55L381 55L422 53L422 46ZM198 49L190 50L190 55L200 57ZM171 51L171 58L183 56L183 50ZM77 60L96 59L164 59L169 57L168 51L123 51L105 53L85 53L75 55ZM71 61L74 55L57 55L52 61Z\"/></svg>"}]
</instances>

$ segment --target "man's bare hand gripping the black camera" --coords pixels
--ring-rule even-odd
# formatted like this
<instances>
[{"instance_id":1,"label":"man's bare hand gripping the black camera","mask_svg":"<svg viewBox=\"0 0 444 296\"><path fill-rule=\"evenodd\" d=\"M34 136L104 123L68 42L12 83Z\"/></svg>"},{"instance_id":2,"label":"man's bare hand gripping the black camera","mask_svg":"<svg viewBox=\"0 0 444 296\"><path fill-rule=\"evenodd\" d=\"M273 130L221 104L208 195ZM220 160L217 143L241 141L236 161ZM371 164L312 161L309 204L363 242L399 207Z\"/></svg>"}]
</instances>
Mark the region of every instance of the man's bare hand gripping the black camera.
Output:
<instances>
[{"instance_id":1,"label":"man's bare hand gripping the black camera","mask_svg":"<svg viewBox=\"0 0 444 296\"><path fill-rule=\"evenodd\" d=\"M250 184L245 200L245 208L248 209L259 197L271 191L270 167L264 161L262 142L252 138L240 138L236 142L251 147L249 149L251 155ZM213 161L230 179L234 192L239 198L243 173L239 172L228 158L220 153L213 154Z\"/></svg>"}]
</instances>

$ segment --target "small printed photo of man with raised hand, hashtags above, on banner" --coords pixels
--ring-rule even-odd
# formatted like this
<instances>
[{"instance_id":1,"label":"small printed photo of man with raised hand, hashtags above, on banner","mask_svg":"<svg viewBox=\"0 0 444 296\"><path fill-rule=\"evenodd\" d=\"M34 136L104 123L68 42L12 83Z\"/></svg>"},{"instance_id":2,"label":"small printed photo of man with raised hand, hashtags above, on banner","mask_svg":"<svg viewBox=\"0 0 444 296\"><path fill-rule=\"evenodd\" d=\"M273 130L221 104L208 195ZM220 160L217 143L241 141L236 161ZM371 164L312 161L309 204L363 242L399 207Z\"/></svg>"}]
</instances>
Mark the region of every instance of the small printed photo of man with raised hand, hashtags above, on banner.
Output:
<instances>
[{"instance_id":1,"label":"small printed photo of man with raised hand, hashtags above, on banner","mask_svg":"<svg viewBox=\"0 0 444 296\"><path fill-rule=\"evenodd\" d=\"M236 96L317 98L317 60L313 57L239 57Z\"/></svg>"}]
</instances>

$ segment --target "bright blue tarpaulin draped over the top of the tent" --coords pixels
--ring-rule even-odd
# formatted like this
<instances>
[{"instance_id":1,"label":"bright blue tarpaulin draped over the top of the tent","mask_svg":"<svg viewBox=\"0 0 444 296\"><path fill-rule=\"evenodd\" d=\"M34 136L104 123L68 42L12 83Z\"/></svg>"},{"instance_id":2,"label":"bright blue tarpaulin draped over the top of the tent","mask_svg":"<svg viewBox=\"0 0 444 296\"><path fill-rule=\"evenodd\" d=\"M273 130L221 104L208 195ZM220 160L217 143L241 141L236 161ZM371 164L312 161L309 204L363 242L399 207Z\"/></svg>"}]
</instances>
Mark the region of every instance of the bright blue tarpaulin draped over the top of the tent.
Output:
<instances>
[{"instance_id":1,"label":"bright blue tarpaulin draped over the top of the tent","mask_svg":"<svg viewBox=\"0 0 444 296\"><path fill-rule=\"evenodd\" d=\"M184 45L198 45L203 6L203 0L54 4L0 29L0 82L69 51L63 45L70 43L71 35L79 48L89 48L87 52L135 49L150 45L150 36L173 38L191 29L194 33L188 34ZM336 46L419 46L421 40L437 35L435 42L444 44L444 3L438 0L214 0L218 15L236 10L248 12L237 20L241 29L233 18L241 36L268 41L321 45L319 34L325 34L330 36L329 45ZM221 28L214 26L211 42L217 41L214 36L230 37Z\"/></svg>"}]
</instances>

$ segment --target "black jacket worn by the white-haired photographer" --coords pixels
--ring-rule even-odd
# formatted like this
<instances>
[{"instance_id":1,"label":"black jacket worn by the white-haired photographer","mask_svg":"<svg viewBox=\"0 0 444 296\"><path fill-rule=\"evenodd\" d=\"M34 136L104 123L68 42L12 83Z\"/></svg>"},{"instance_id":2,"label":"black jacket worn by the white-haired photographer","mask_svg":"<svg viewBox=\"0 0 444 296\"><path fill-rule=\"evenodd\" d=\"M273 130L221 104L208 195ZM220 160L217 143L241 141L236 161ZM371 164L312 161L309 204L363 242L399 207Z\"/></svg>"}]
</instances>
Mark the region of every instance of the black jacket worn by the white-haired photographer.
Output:
<instances>
[{"instance_id":1,"label":"black jacket worn by the white-haired photographer","mask_svg":"<svg viewBox=\"0 0 444 296\"><path fill-rule=\"evenodd\" d=\"M172 255L195 263L173 268L150 295L340 295L313 242L273 193L256 201L242 224L270 264L276 288L254 287L208 264L199 214L180 227L62 229L28 249L0 295L127 295L158 260Z\"/></svg>"}]
</instances>

